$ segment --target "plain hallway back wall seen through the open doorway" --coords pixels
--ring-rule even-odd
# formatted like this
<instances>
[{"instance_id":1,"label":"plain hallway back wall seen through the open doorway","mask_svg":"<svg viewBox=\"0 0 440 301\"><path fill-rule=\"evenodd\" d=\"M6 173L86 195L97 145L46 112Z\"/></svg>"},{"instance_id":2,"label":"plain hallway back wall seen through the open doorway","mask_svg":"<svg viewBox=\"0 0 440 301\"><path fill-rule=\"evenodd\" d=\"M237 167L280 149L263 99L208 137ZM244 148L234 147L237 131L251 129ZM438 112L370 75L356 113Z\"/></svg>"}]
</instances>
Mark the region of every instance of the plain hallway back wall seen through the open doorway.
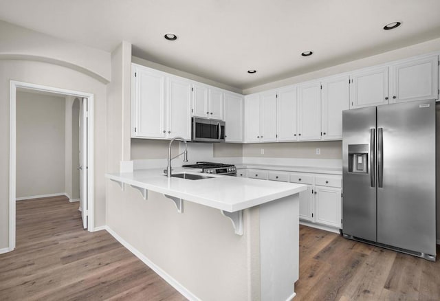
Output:
<instances>
[{"instance_id":1,"label":"plain hallway back wall seen through the open doorway","mask_svg":"<svg viewBox=\"0 0 440 301\"><path fill-rule=\"evenodd\" d=\"M65 192L65 98L17 92L17 198Z\"/></svg>"}]
</instances>

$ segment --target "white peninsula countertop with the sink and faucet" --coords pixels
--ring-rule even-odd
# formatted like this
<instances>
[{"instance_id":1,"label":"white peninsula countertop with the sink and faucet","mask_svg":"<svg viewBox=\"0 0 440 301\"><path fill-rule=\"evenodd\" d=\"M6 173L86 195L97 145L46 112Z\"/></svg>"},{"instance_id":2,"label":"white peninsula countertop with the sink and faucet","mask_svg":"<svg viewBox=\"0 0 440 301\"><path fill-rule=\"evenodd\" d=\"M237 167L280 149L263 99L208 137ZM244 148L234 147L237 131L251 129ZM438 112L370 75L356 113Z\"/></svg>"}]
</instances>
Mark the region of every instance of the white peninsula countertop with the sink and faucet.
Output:
<instances>
[{"instance_id":1,"label":"white peninsula countertop with the sink and faucet","mask_svg":"<svg viewBox=\"0 0 440 301\"><path fill-rule=\"evenodd\" d=\"M200 172L173 170L173 173L192 173L206 175ZM235 212L269 201L274 201L288 195L296 194L307 189L307 186L297 183L265 181L242 177L209 175L210 179L181 179L163 174L163 169L134 170L133 172L111 173L105 177L114 181L129 184L139 188L168 194L185 201L199 203L226 212Z\"/></svg>"}]
</instances>

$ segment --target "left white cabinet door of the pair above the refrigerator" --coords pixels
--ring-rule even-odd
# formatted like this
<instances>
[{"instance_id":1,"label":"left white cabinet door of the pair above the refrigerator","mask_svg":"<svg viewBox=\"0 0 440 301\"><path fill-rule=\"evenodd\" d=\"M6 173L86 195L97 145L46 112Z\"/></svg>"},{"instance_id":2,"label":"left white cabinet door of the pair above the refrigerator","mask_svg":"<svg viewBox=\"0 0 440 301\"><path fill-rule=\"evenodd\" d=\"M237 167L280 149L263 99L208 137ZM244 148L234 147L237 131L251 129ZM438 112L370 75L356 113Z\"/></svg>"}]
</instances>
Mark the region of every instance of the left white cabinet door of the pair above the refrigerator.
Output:
<instances>
[{"instance_id":1,"label":"left white cabinet door of the pair above the refrigerator","mask_svg":"<svg viewBox=\"0 0 440 301\"><path fill-rule=\"evenodd\" d=\"M388 67L351 74L350 108L388 104Z\"/></svg>"}]
</instances>

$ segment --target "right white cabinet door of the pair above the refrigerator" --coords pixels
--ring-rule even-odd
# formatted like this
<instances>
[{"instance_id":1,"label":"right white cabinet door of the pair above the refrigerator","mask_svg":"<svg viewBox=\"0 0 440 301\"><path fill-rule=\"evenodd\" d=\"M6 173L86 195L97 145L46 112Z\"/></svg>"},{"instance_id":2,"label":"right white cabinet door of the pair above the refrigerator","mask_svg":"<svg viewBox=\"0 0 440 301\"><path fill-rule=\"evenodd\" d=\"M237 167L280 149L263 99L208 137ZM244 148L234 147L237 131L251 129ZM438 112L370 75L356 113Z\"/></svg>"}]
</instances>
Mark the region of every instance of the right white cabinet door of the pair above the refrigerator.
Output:
<instances>
[{"instance_id":1,"label":"right white cabinet door of the pair above the refrigerator","mask_svg":"<svg viewBox=\"0 0 440 301\"><path fill-rule=\"evenodd\" d=\"M390 68L390 102L439 98L439 57L430 56Z\"/></svg>"}]
</instances>

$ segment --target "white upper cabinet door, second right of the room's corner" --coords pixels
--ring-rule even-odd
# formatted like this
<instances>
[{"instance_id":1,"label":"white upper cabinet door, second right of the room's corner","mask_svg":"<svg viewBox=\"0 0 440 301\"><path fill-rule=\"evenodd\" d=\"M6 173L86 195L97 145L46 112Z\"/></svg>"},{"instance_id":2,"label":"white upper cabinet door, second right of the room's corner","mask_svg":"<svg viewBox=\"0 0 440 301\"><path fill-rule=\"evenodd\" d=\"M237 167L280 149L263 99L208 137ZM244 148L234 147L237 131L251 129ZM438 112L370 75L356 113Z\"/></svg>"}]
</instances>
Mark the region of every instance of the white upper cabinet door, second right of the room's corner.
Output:
<instances>
[{"instance_id":1,"label":"white upper cabinet door, second right of the room's corner","mask_svg":"<svg viewBox=\"0 0 440 301\"><path fill-rule=\"evenodd\" d=\"M260 130L262 142L276 142L276 93L261 94Z\"/></svg>"}]
</instances>

